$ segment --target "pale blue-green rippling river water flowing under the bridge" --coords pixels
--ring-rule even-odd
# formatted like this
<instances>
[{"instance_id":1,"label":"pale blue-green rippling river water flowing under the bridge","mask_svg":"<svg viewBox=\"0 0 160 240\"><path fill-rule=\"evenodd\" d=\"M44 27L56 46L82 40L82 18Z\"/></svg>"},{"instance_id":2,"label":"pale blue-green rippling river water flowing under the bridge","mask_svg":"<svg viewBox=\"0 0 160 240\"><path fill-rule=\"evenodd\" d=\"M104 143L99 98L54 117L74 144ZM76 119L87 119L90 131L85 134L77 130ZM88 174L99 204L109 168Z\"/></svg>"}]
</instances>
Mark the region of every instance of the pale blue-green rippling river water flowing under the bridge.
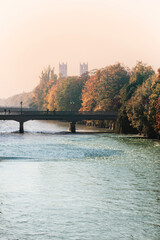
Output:
<instances>
[{"instance_id":1,"label":"pale blue-green rippling river water flowing under the bridge","mask_svg":"<svg viewBox=\"0 0 160 240\"><path fill-rule=\"evenodd\" d=\"M160 142L0 122L0 240L159 240Z\"/></svg>"}]
</instances>

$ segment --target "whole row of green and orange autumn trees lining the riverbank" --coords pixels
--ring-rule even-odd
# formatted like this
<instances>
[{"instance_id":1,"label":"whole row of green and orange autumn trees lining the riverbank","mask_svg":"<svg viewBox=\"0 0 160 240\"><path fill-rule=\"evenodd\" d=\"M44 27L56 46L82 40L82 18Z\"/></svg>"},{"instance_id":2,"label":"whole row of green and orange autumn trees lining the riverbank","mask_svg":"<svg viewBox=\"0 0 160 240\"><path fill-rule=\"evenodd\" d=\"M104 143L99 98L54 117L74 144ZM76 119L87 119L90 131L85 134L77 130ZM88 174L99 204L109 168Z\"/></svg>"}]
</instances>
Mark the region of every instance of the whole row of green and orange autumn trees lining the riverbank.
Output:
<instances>
[{"instance_id":1,"label":"whole row of green and orange autumn trees lining the riverbank","mask_svg":"<svg viewBox=\"0 0 160 240\"><path fill-rule=\"evenodd\" d=\"M38 110L118 110L116 133L160 135L160 69L137 62L130 70L120 63L83 74L58 78L48 67L40 76L30 104ZM88 124L109 127L107 121Z\"/></svg>"}]
</instances>

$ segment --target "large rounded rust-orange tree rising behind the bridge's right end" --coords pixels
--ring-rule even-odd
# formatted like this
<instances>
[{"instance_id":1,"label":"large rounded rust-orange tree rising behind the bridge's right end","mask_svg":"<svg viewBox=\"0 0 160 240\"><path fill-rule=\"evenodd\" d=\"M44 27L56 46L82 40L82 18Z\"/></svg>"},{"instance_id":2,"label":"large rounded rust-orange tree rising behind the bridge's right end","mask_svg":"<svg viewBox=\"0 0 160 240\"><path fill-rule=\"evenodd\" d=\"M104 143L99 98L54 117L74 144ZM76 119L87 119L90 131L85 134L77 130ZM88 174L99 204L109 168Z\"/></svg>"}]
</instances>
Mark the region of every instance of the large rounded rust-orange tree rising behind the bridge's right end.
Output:
<instances>
[{"instance_id":1,"label":"large rounded rust-orange tree rising behind the bridge's right end","mask_svg":"<svg viewBox=\"0 0 160 240\"><path fill-rule=\"evenodd\" d=\"M120 63L98 70L82 90L82 110L117 110L120 90L128 81L129 71Z\"/></svg>"}]
</instances>

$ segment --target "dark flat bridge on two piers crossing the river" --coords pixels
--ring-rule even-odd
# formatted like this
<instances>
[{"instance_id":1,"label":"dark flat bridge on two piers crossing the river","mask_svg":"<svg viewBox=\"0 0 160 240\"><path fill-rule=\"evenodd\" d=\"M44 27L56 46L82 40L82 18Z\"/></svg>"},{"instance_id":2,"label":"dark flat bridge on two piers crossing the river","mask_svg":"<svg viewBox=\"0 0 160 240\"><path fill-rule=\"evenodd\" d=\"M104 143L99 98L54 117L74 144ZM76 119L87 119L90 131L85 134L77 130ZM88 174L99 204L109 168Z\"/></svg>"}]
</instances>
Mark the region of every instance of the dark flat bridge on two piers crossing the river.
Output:
<instances>
[{"instance_id":1,"label":"dark flat bridge on two piers crossing the river","mask_svg":"<svg viewBox=\"0 0 160 240\"><path fill-rule=\"evenodd\" d=\"M29 109L0 108L0 120L19 122L19 133L24 133L24 122L30 120L59 120L69 122L69 131L76 132L76 122L83 120L113 120L118 112L34 111Z\"/></svg>"}]
</instances>

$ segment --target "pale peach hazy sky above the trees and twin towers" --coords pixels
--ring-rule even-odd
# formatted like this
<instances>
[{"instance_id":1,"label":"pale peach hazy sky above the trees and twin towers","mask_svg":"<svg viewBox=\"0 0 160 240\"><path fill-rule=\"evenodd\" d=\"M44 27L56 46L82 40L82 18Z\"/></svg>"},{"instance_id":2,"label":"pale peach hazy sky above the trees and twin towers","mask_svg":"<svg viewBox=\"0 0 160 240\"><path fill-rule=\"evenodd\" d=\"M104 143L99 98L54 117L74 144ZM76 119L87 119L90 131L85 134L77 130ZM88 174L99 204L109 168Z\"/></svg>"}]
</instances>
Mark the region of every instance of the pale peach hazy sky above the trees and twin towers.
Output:
<instances>
[{"instance_id":1,"label":"pale peach hazy sky above the trees and twin towers","mask_svg":"<svg viewBox=\"0 0 160 240\"><path fill-rule=\"evenodd\" d=\"M27 92L48 65L79 74L137 60L160 67L160 0L0 0L0 98Z\"/></svg>"}]
</instances>

